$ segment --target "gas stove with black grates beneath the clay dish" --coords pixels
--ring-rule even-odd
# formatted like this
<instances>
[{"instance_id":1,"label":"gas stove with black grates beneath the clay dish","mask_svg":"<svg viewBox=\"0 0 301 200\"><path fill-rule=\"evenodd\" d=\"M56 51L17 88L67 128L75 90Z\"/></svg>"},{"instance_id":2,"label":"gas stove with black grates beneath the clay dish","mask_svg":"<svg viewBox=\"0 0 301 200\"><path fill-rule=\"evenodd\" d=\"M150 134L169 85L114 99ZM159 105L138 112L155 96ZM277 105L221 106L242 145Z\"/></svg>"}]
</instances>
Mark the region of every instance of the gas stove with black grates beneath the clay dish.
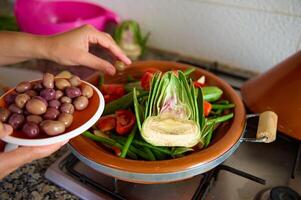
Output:
<instances>
[{"instance_id":1,"label":"gas stove with black grates beneath the clay dish","mask_svg":"<svg viewBox=\"0 0 301 200\"><path fill-rule=\"evenodd\" d=\"M211 71L238 93L241 85L250 78L246 73L222 68L218 63L177 61ZM247 130L255 132L256 123L248 123ZM282 195L282 199L298 199L294 192L301 194L300 146L299 141L278 132L277 140L270 144L242 143L222 165L204 174L175 183L153 185L129 183L103 175L69 151L48 168L45 177L87 200L255 200L268 199L271 194L274 197Z\"/></svg>"}]
</instances>

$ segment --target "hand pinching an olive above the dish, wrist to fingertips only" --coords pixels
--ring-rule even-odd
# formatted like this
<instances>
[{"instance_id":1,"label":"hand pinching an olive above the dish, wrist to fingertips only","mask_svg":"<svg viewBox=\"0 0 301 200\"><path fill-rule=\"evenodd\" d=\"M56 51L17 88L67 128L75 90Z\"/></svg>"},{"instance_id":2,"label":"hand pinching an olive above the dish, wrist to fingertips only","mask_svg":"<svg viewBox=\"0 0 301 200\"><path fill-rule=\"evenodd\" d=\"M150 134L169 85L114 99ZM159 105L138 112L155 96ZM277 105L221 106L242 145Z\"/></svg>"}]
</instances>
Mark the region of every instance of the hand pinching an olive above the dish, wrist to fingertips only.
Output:
<instances>
[{"instance_id":1,"label":"hand pinching an olive above the dish, wrist to fingertips only","mask_svg":"<svg viewBox=\"0 0 301 200\"><path fill-rule=\"evenodd\" d=\"M48 59L64 65L84 65L114 75L116 70L111 63L89 53L90 44L106 48L125 64L131 64L131 60L109 34L90 25L49 37L46 41L46 57L49 56Z\"/></svg>"}]
</instances>

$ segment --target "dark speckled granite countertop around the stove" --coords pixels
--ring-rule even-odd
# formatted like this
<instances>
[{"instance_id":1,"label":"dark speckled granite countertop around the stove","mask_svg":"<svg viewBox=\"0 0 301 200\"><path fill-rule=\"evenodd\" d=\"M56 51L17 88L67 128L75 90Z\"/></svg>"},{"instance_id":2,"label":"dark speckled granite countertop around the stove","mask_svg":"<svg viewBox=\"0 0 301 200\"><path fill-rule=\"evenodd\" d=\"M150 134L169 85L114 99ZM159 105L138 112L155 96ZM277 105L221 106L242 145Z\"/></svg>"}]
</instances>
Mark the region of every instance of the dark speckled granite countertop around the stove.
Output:
<instances>
[{"instance_id":1,"label":"dark speckled granite countertop around the stove","mask_svg":"<svg viewBox=\"0 0 301 200\"><path fill-rule=\"evenodd\" d=\"M96 55L104 55L103 52L99 50L93 50ZM109 57L106 57L109 59ZM148 59L161 59L161 60L189 60L195 63L201 62L206 63L206 61L200 61L192 58L182 58L178 54L162 52L155 49L150 49L145 56L142 57L143 60ZM208 63L209 64L209 63ZM212 63L211 63L212 64ZM227 66L216 65L217 67L223 67L231 73L242 73L244 75L254 75L255 73L249 71L241 71ZM41 72L51 72L58 73L62 70L67 69L64 66L58 65L56 63L45 61L45 60L32 60L28 62L23 62L20 64L12 65L14 68L23 68L38 70ZM93 73L97 73L95 70L91 70L85 67L68 67L68 70L72 73L79 75L81 78L87 78ZM43 158L40 160L33 161L26 164L3 180L0 181L0 199L78 199L78 197L72 195L71 193L65 191L64 189L56 186L44 178L46 169L60 156L62 156L67 151L67 147L64 146L58 152L53 155Z\"/></svg>"}]
</instances>

